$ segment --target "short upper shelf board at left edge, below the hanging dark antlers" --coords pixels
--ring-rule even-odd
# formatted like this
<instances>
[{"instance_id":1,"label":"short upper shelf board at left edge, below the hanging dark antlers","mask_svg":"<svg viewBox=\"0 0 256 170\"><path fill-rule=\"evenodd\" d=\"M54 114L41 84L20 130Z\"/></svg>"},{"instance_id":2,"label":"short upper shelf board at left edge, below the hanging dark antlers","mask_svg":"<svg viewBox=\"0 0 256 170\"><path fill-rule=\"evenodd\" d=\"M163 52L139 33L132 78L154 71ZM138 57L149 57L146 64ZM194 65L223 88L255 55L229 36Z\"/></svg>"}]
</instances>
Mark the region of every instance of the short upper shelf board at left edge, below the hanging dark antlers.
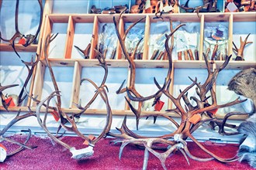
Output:
<instances>
[{"instance_id":1,"label":"short upper shelf board at left edge, below the hanging dark antlers","mask_svg":"<svg viewBox=\"0 0 256 170\"><path fill-rule=\"evenodd\" d=\"M16 51L17 52L36 52L37 44L31 44L30 46L22 46L21 44L16 44ZM0 51L8 51L13 52L12 46L8 43L1 43L0 44Z\"/></svg>"}]
</instances>

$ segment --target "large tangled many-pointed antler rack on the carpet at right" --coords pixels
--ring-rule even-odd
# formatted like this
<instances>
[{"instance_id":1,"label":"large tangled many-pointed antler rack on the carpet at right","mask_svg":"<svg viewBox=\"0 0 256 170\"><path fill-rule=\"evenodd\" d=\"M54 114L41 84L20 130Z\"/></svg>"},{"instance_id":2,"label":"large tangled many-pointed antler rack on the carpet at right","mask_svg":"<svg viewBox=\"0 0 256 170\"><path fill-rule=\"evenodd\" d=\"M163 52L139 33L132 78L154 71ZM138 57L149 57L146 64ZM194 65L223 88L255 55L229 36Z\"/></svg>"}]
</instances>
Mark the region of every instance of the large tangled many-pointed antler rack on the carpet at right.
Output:
<instances>
[{"instance_id":1,"label":"large tangled many-pointed antler rack on the carpet at right","mask_svg":"<svg viewBox=\"0 0 256 170\"><path fill-rule=\"evenodd\" d=\"M170 67L171 67L172 66L171 65L171 61L172 61L171 53L170 53L171 49L168 46L168 41L171 38L171 34L169 36L166 36L166 38L167 38L167 40L165 42L165 48L166 48L167 52L169 52L168 59L169 59ZM239 100L237 98L236 100L231 101L230 103L227 103L227 104L217 104L216 93L213 88L214 87L213 85L216 82L216 77L218 76L220 71L223 70L229 63L230 58L231 58L231 56L227 56L226 60L223 62L223 65L220 66L219 69L215 69L212 71L210 68L210 65L209 65L210 63L207 60L207 56L204 55L206 69L208 71L208 76L206 78L206 81L201 84L201 83L197 82L196 77L195 77L195 80L192 80L192 78L189 77L189 79L192 80L192 84L189 85L189 87L186 87L184 90L180 90L180 94L178 95L178 97L173 97L171 95L171 93L169 92L168 87L170 86L170 83L171 83L171 76L167 76L166 82L164 83L164 88L162 88L155 81L158 89L161 90L160 93L164 93L175 105L174 109L171 109L168 111L175 111L176 113L178 113L181 117L181 122L178 124L171 117L168 117L168 120L172 121L175 124L175 126L177 127L177 129L175 131L171 132L170 134L165 134L160 137L149 138L149 137L137 135L137 134L133 133L133 131L130 131L130 129L126 126L126 117L125 117L122 127L116 128L118 131L120 131L121 134L109 133L109 135L118 138L114 141L115 143L117 143L117 142L122 143L120 151L119 151L119 158L122 155L123 148L128 144L133 144L133 145L144 146L144 148L145 148L143 169L147 168L149 151L152 154L154 154L157 158L160 159L161 164L164 169L167 169L165 166L166 159L171 155L171 153L173 153L176 150L181 151L188 162L189 162L189 159L187 157L192 158L193 160L197 160L199 162L206 162L206 161L210 161L213 159L216 159L220 162L237 161L237 158L235 158L235 157L234 158L221 158L220 156L213 154L212 151L209 151L208 149L206 149L201 143L199 143L199 141L197 141L196 138L194 138L192 136L192 133L194 131L196 131L202 124L204 124L206 122L213 122L213 123L217 124L220 128L219 132L222 132L223 134L226 134L226 132L224 131L224 127L236 128L234 125L226 123L227 118L234 114L240 114L240 113L227 114L227 116L224 118L223 121L217 120L216 117L212 113L213 110L217 110L217 109L223 108L223 107L230 107L230 106L233 106L234 104L240 104L240 103L244 102L244 100ZM211 61L211 63L214 63L214 61ZM171 71L170 68L169 68L169 71ZM168 75L170 75L170 73L168 73ZM194 86L196 86L195 91L199 98L198 97L190 97L190 100L195 101L195 106L192 105L192 103L188 97L189 90L192 90L192 87L194 87ZM133 91L131 91L131 90L127 90L127 92L133 93ZM210 93L210 96L207 97L208 92ZM137 100L139 102L144 100L143 97L137 97L136 95L135 95L135 97L133 97L132 95L129 95L129 97L131 98L131 100ZM209 104L209 102L208 102L209 99L212 100L211 104ZM182 102L181 102L182 100L184 100L184 102L185 102L185 107L182 107ZM199 117L202 117L201 120L197 121L197 122L191 121L192 117L194 117L195 115L199 115ZM149 114L147 116L149 117L149 116L155 116L155 115ZM163 117L164 117L164 115L163 115ZM137 117L137 119L138 119L138 117ZM231 133L231 134L236 134L236 133ZM192 153L190 153L189 148L185 142L185 140L187 138L190 138L192 141L194 141L195 144L198 145L199 148L202 149L202 151L205 151L209 155L209 158L199 158L199 157L192 155ZM164 151L163 153L159 153L158 151L155 150L156 148L159 149L159 147L157 147L157 145L156 145L159 143L168 146L165 148L166 151Z\"/></svg>"}]
</instances>

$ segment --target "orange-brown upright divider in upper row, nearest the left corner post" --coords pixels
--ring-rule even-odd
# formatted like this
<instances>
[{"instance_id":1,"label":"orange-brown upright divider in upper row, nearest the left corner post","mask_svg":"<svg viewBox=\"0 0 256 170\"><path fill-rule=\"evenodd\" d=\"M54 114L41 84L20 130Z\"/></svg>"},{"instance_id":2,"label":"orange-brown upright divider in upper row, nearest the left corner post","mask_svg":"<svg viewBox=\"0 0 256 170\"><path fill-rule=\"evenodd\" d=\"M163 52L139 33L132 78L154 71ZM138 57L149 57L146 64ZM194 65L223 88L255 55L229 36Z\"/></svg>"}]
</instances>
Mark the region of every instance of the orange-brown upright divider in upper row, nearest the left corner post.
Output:
<instances>
[{"instance_id":1,"label":"orange-brown upright divider in upper row, nearest the left corner post","mask_svg":"<svg viewBox=\"0 0 256 170\"><path fill-rule=\"evenodd\" d=\"M71 58L73 41L74 41L74 21L73 21L72 17L69 16L68 24L67 24L65 53L64 53L65 59Z\"/></svg>"}]
</instances>

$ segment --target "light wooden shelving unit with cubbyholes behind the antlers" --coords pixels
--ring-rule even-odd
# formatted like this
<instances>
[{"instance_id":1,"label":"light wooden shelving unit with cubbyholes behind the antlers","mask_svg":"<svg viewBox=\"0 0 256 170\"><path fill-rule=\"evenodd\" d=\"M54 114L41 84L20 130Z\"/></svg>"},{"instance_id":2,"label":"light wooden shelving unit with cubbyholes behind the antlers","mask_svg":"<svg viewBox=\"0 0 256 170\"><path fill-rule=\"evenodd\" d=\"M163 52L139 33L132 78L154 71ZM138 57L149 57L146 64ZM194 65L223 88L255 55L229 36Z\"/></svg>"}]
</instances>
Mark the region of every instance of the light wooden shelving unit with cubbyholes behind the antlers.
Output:
<instances>
[{"instance_id":1,"label":"light wooden shelving unit with cubbyholes behind the antlers","mask_svg":"<svg viewBox=\"0 0 256 170\"><path fill-rule=\"evenodd\" d=\"M95 67L99 63L97 59L95 59L95 47L98 45L99 42L99 24L100 23L113 23L113 16L118 18L119 15L93 15L93 14L54 14L51 13L53 8L53 2L47 1L44 8L44 17L43 17L43 25L40 32L39 37L39 44L44 44L47 35L50 35L53 32L54 24L63 23L67 26L66 30L66 38L65 38L65 46L64 46L64 56L51 56L49 58L51 66L68 66L74 69L73 73L73 80L72 80L72 90L71 90L71 99L69 107L65 107L64 111L68 113L78 113L79 110L74 107L74 103L78 104L79 99L79 90L80 90L80 81L81 81L81 69L83 67ZM206 22L227 22L229 25L228 28L228 42L227 42L227 51L228 54L232 54L232 42L233 42L233 23L234 22L256 22L255 12L243 12L243 13L200 13L199 16L195 13L174 13L174 14L164 14L162 15L163 19L154 19L154 14L124 14L119 22L119 31L123 34L125 24L130 22L135 22L137 19L144 18L142 21L144 23L144 53L142 59L135 59L135 63L137 68L159 68L159 69L167 69L168 68L168 61L167 60L150 60L150 56L148 53L149 44L148 41L150 39L150 24L155 22L169 22L171 19L173 22L181 22L181 23L190 23L190 22L197 22L200 25L199 31L199 46L197 47L199 50L199 60L192 61L192 60L174 60L173 66L174 71L175 69L205 69L206 65L204 60L202 59L202 53L205 51L204 49L204 25ZM75 26L78 23L90 23L93 26L92 29L92 39L86 40L85 46L88 42L92 43L92 48L90 50L89 59L80 59L72 57L72 49L74 48L74 35L75 35ZM85 28L86 29L86 28ZM87 44L86 44L87 43ZM116 42L117 49L116 49L116 58L115 59L106 59L109 67L120 67L127 70L128 78L126 82L129 82L129 65L126 59L123 58L122 50L119 46L119 43ZM256 43L256 42L254 42ZM12 51L12 47L8 44L1 44L1 51ZM36 71L33 75L32 80L32 87L30 88L30 93L33 93L34 96L38 96L38 99L42 97L43 93L43 82L44 82L44 74L47 69L45 61L44 61L44 54L43 54L43 46L29 46L27 48L23 48L22 46L17 46L16 49L18 51L29 51L29 52L37 52L41 54L40 63L38 63L36 67ZM253 48L253 47L251 47ZM50 53L50 52L49 52ZM255 54L254 60L251 61L230 61L229 65L227 66L228 70L241 70L250 67L255 67ZM5 57L5 56L1 56ZM211 63L209 61L209 63ZM219 68L223 61L214 61L211 63L213 68ZM174 74L172 74L172 80L175 79ZM122 82L120 82L122 83ZM153 84L154 82L152 82ZM174 84L171 84L170 91L173 91ZM36 104L33 102L29 102L26 106L31 106L32 110L35 110ZM168 108L171 108L171 101L168 100ZM13 107L10 110L26 110L26 107ZM3 108L1 107L1 110ZM112 110L113 114L116 115L124 115L129 114L131 115L132 112L127 107L123 106L123 110ZM154 112L154 113L165 113L165 111L161 112ZM101 109L89 109L87 110L86 114L106 114L106 110ZM142 114L147 114L147 111L142 111ZM175 116L174 113L166 113ZM223 117L223 116L220 116ZM234 117L234 119L244 119L244 117Z\"/></svg>"}]
</instances>

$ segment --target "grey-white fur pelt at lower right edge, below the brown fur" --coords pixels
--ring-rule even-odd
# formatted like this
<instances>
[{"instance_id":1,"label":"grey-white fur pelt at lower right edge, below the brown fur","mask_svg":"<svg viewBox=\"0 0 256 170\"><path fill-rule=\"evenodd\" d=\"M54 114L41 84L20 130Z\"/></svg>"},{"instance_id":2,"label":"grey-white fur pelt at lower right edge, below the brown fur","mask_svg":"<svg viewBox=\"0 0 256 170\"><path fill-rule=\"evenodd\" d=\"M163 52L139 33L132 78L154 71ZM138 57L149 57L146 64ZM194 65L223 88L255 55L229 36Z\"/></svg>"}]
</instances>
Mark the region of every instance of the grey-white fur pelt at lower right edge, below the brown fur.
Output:
<instances>
[{"instance_id":1,"label":"grey-white fur pelt at lower right edge, below the brown fur","mask_svg":"<svg viewBox=\"0 0 256 170\"><path fill-rule=\"evenodd\" d=\"M256 168L256 114L252 115L240 124L238 131L244 134L237 156L240 162L247 161L253 168Z\"/></svg>"}]
</instances>

